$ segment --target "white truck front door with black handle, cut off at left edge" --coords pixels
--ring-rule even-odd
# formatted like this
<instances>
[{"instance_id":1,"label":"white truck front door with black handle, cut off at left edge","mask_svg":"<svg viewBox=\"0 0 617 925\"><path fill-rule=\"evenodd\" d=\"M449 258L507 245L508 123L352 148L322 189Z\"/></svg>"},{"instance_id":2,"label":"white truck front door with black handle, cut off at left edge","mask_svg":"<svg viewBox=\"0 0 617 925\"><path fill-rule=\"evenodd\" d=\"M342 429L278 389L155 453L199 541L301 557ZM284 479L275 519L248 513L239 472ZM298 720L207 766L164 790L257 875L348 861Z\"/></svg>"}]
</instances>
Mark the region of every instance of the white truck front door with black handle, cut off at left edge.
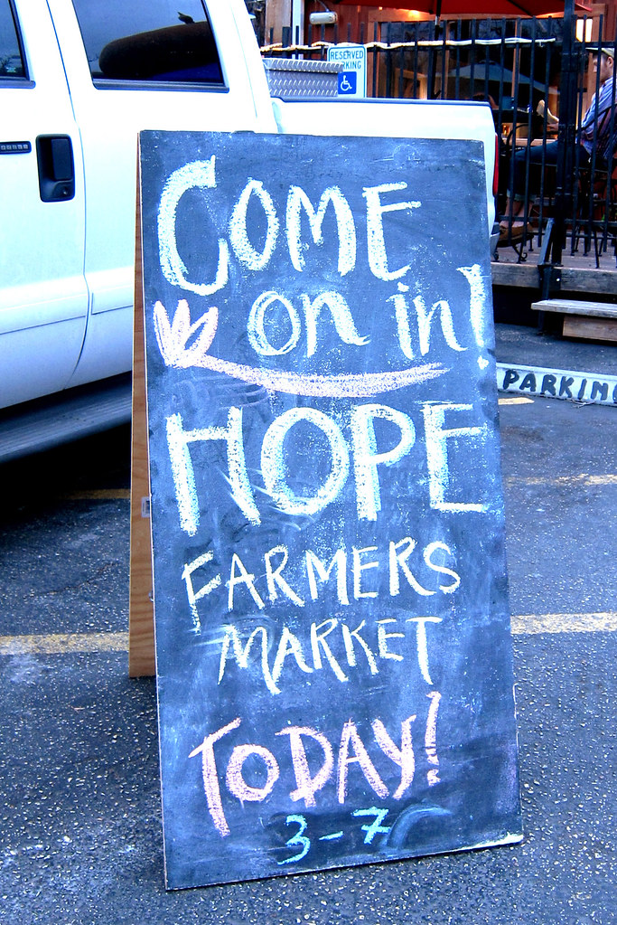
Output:
<instances>
[{"instance_id":1,"label":"white truck front door with black handle, cut off at left edge","mask_svg":"<svg viewBox=\"0 0 617 925\"><path fill-rule=\"evenodd\" d=\"M44 0L0 0L0 407L65 388L85 335L79 133Z\"/></svg>"}]
</instances>

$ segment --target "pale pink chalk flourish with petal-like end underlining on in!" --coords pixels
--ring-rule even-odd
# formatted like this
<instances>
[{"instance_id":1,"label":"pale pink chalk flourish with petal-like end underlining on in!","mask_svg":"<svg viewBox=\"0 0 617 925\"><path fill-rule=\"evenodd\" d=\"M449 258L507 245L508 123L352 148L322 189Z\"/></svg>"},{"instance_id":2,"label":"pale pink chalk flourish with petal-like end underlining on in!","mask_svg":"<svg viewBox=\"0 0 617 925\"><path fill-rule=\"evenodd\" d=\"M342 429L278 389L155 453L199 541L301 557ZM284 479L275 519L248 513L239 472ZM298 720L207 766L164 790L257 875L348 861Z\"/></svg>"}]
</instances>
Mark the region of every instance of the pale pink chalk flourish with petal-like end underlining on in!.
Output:
<instances>
[{"instance_id":1,"label":"pale pink chalk flourish with petal-like end underlining on in!","mask_svg":"<svg viewBox=\"0 0 617 925\"><path fill-rule=\"evenodd\" d=\"M218 309L212 306L198 321L191 324L188 302L181 299L177 304L174 320L170 323L163 302L156 302L154 331L165 364L176 369L210 369L212 372L223 373L225 376L271 391L313 398L369 398L381 392L391 392L397 388L428 382L429 379L448 372L445 366L427 363L383 373L317 376L232 363L208 352L216 333L218 319ZM198 331L200 333L195 338ZM195 339L188 345L192 338Z\"/></svg>"}]
</instances>

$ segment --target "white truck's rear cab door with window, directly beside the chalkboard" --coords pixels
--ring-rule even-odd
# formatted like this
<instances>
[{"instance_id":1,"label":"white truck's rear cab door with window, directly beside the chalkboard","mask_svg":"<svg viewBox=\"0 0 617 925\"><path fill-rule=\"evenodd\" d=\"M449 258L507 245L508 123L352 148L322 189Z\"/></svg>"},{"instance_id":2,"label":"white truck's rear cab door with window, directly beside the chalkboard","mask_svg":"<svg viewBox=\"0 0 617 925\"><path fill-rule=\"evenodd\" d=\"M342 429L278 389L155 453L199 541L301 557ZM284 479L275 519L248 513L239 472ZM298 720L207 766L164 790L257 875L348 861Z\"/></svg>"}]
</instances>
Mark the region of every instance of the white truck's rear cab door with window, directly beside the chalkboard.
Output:
<instances>
[{"instance_id":1,"label":"white truck's rear cab door with window, directly beside the chalkboard","mask_svg":"<svg viewBox=\"0 0 617 925\"><path fill-rule=\"evenodd\" d=\"M245 39L255 44L244 3L239 26L231 0L212 4L212 20L202 0L48 3L79 122L88 191L91 310L72 379L79 385L131 363L139 130L276 128L269 98L258 122L253 84L259 80L251 80L238 32L248 28ZM256 44L254 58L267 91Z\"/></svg>"}]
</instances>

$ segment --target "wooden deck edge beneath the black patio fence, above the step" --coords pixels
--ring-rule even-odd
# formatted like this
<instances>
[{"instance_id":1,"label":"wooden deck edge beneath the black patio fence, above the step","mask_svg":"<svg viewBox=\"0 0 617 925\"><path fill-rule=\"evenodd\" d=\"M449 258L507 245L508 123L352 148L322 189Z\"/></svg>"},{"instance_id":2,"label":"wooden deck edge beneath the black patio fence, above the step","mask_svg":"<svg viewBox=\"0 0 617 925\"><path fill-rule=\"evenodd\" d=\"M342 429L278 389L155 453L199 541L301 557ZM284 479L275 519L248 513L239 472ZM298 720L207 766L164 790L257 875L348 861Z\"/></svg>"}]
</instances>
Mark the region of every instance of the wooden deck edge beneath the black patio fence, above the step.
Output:
<instances>
[{"instance_id":1,"label":"wooden deck edge beneath the black patio fence, above the step","mask_svg":"<svg viewBox=\"0 0 617 925\"><path fill-rule=\"evenodd\" d=\"M590 296L604 295L617 297L617 261L614 250L609 244L607 253L602 253L599 267L596 267L596 255L592 251L584 253L581 242L578 253L570 253L570 241L563 251L562 286L563 292L585 292ZM518 262L518 254L513 247L501 247L498 259L493 260L493 286L520 286L538 289L538 258L540 249L538 240L531 241L526 249L526 259Z\"/></svg>"}]
</instances>

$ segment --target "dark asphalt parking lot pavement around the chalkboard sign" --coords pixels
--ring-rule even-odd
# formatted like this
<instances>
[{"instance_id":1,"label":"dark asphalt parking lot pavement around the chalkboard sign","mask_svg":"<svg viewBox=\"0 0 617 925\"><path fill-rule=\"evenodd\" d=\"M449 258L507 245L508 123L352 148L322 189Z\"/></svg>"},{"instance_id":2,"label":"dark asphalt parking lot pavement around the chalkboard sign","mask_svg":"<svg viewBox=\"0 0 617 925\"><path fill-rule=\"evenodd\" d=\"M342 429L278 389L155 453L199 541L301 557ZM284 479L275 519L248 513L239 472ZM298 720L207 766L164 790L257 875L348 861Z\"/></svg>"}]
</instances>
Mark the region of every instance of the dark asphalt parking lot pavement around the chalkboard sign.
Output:
<instances>
[{"instance_id":1,"label":"dark asphalt parking lot pavement around the chalkboard sign","mask_svg":"<svg viewBox=\"0 0 617 925\"><path fill-rule=\"evenodd\" d=\"M498 359L529 350L616 368L500 326ZM617 922L617 408L508 395L500 417L525 841L177 893L155 685L127 674L129 430L0 467L0 921Z\"/></svg>"}]
</instances>

